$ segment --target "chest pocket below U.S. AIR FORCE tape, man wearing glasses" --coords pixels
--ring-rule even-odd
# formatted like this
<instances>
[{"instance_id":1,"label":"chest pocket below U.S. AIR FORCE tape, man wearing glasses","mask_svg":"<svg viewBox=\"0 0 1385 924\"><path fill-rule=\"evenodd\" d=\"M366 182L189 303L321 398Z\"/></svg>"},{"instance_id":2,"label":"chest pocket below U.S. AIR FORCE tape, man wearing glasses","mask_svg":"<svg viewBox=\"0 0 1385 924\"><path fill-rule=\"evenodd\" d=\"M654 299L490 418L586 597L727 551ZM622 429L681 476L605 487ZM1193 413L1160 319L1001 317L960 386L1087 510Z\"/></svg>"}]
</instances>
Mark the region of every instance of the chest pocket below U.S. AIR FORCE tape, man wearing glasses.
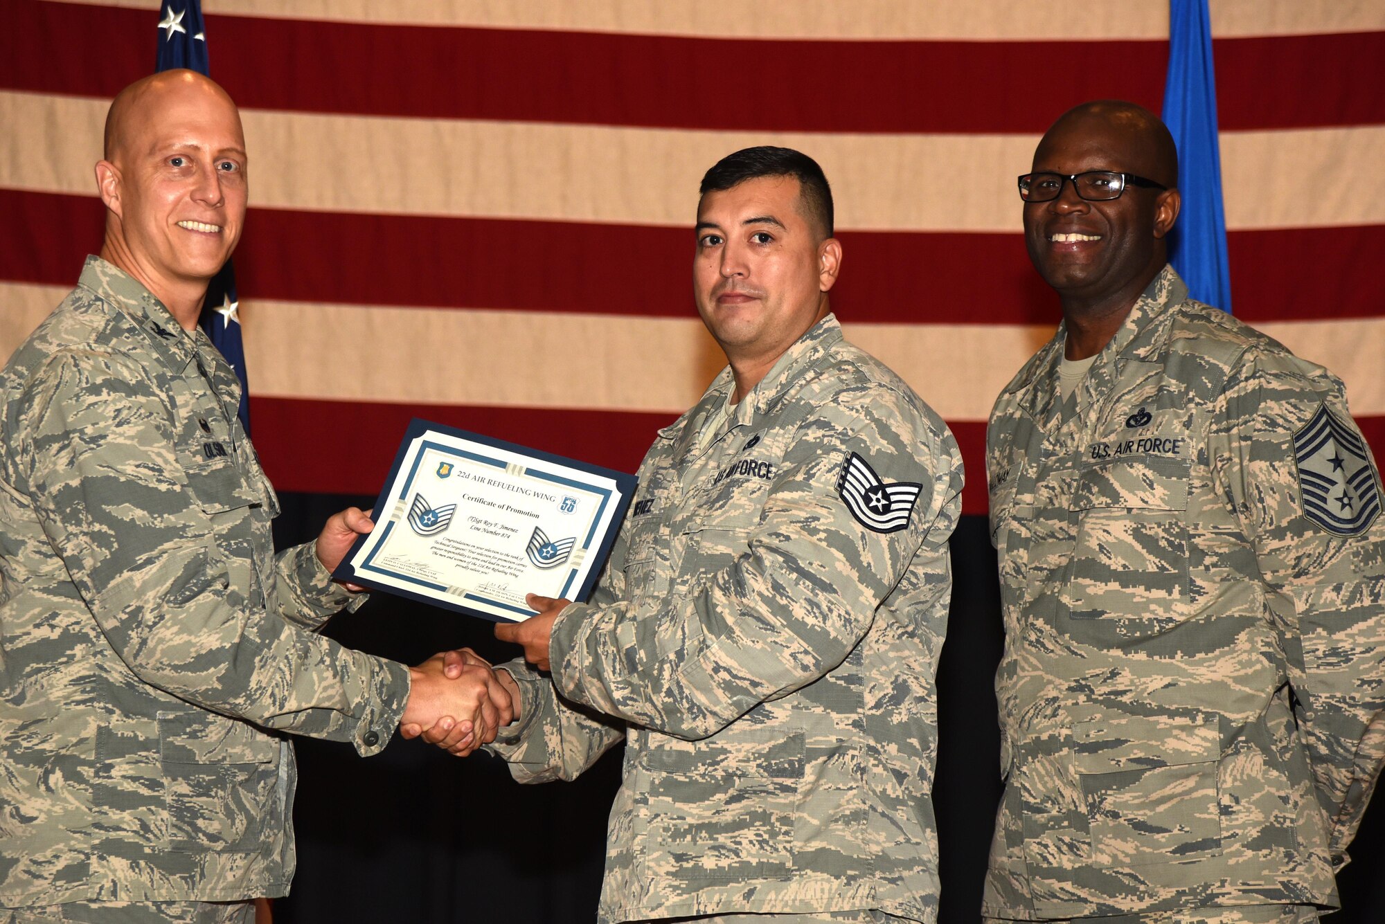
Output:
<instances>
[{"instance_id":1,"label":"chest pocket below U.S. AIR FORCE tape, man wearing glasses","mask_svg":"<svg viewBox=\"0 0 1385 924\"><path fill-rule=\"evenodd\" d=\"M1114 459L1079 472L1078 533L1062 584L1073 634L1129 642L1191 613L1188 474L1188 461L1165 458Z\"/></svg>"}]
</instances>

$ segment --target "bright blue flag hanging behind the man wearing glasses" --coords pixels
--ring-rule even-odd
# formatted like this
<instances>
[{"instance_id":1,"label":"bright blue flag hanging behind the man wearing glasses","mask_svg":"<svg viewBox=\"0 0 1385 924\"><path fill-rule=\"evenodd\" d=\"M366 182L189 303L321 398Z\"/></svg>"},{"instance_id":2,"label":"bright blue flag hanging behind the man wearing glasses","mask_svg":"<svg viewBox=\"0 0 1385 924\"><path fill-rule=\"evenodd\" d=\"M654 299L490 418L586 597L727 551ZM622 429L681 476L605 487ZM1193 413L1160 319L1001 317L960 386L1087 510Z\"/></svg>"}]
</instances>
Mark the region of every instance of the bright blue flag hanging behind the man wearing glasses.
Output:
<instances>
[{"instance_id":1,"label":"bright blue flag hanging behind the man wearing glasses","mask_svg":"<svg viewBox=\"0 0 1385 924\"><path fill-rule=\"evenodd\" d=\"M1169 0L1169 77L1163 123L1179 145L1183 210L1169 235L1169 261L1198 302L1231 310L1231 272L1222 207L1216 75L1208 0Z\"/></svg>"}]
</instances>

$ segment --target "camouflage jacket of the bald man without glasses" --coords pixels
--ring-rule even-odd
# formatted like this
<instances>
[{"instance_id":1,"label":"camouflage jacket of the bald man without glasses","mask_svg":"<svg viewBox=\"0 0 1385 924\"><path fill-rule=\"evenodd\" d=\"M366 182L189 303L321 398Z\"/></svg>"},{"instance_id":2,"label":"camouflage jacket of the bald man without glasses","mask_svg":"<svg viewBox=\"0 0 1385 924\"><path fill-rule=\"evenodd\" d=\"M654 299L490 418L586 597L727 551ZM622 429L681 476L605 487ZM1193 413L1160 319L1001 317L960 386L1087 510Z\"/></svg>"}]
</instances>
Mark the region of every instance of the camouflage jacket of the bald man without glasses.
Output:
<instances>
[{"instance_id":1,"label":"camouflage jacket of the bald man without glasses","mask_svg":"<svg viewBox=\"0 0 1385 924\"><path fill-rule=\"evenodd\" d=\"M90 257L0 372L0 906L283 895L292 750L389 740L403 665L309 629L348 603L274 491L235 375Z\"/></svg>"}]
</instances>

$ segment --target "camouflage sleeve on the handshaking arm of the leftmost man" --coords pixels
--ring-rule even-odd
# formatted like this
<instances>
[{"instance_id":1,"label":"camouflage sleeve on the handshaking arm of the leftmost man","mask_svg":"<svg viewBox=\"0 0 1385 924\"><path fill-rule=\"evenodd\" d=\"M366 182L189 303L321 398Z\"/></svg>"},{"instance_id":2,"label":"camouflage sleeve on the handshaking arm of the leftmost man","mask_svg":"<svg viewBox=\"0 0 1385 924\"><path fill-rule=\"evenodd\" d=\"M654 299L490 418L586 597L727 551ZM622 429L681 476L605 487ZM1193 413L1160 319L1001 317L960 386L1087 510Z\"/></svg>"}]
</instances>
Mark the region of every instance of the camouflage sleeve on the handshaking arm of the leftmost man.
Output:
<instances>
[{"instance_id":1,"label":"camouflage sleeve on the handshaking arm of the leftmost man","mask_svg":"<svg viewBox=\"0 0 1385 924\"><path fill-rule=\"evenodd\" d=\"M48 542L143 682L258 725L389 740L409 697L402 664L341 647L245 603L179 463L144 369L96 350L55 354L29 383L25 472Z\"/></svg>"}]
</instances>

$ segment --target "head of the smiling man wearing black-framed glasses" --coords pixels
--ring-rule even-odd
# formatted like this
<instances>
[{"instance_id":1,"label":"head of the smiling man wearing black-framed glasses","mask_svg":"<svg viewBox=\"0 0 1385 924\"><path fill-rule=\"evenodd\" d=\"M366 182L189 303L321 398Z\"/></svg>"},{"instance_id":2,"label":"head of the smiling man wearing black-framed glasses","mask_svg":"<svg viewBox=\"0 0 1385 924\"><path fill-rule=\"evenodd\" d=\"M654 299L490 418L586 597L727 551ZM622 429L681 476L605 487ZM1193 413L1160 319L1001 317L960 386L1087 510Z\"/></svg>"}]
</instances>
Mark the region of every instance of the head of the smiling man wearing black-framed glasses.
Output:
<instances>
[{"instance_id":1,"label":"head of the smiling man wearing black-framed glasses","mask_svg":"<svg viewBox=\"0 0 1385 924\"><path fill-rule=\"evenodd\" d=\"M1173 187L1177 162L1170 167L1168 147L1154 137L1148 113L1140 113L1094 108L1065 115L1039 142L1033 172L1112 170ZM1177 217L1179 194L1127 184L1119 199L1087 202L1065 183L1057 199L1026 202L1024 210L1029 259L1062 297L1064 311L1129 310L1166 263L1165 235Z\"/></svg>"}]
</instances>

